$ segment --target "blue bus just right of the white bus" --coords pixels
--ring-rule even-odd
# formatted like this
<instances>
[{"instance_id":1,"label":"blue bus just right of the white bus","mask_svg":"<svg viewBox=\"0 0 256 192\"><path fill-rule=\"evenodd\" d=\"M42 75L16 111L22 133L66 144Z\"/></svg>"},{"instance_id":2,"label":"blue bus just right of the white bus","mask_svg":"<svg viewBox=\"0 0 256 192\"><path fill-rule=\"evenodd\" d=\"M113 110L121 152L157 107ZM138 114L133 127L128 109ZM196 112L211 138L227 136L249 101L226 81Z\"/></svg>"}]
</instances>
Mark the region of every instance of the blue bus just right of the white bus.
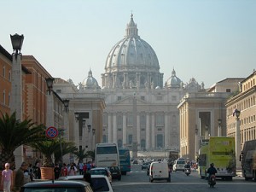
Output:
<instances>
[{"instance_id":1,"label":"blue bus just right of the white bus","mask_svg":"<svg viewBox=\"0 0 256 192\"><path fill-rule=\"evenodd\" d=\"M129 148L119 148L119 161L122 175L131 172L131 156Z\"/></svg>"}]
</instances>

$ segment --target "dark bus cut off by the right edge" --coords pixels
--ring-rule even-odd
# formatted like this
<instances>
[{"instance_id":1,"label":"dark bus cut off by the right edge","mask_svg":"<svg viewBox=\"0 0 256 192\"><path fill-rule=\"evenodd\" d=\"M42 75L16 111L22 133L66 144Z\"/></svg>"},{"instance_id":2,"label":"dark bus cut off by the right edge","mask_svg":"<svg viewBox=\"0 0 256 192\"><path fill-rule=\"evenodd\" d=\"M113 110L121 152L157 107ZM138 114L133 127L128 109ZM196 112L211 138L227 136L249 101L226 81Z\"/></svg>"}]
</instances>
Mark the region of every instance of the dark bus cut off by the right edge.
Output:
<instances>
[{"instance_id":1,"label":"dark bus cut off by the right edge","mask_svg":"<svg viewBox=\"0 0 256 192\"><path fill-rule=\"evenodd\" d=\"M256 181L256 140L246 141L243 145L241 155L242 177L246 180Z\"/></svg>"}]
</instances>

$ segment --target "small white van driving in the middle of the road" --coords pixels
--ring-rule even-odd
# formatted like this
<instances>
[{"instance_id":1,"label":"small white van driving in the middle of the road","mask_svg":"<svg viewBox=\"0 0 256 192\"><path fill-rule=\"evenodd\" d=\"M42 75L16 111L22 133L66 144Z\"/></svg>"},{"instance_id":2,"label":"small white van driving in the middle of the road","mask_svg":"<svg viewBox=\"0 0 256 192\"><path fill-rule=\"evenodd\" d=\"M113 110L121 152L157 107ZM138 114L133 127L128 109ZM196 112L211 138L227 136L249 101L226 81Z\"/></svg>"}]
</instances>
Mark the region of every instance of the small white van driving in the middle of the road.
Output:
<instances>
[{"instance_id":1,"label":"small white van driving in the middle of the road","mask_svg":"<svg viewBox=\"0 0 256 192\"><path fill-rule=\"evenodd\" d=\"M171 182L168 163L164 161L152 162L149 167L149 182L154 180L166 180Z\"/></svg>"}]
</instances>

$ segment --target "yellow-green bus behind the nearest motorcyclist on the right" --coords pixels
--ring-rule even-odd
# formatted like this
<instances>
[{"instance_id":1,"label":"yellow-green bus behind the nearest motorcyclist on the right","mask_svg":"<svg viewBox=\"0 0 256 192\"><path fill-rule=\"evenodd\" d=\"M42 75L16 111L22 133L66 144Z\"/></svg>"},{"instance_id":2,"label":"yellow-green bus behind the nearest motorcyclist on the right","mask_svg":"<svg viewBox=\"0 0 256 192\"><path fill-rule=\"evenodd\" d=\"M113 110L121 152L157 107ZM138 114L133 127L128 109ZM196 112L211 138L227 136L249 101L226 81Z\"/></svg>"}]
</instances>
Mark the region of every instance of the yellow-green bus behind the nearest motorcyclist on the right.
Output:
<instances>
[{"instance_id":1,"label":"yellow-green bus behind the nearest motorcyclist on the right","mask_svg":"<svg viewBox=\"0 0 256 192\"><path fill-rule=\"evenodd\" d=\"M226 180L236 177L235 137L210 137L201 143L198 158L201 178L207 177L207 169L211 163L217 169L216 177Z\"/></svg>"}]
</instances>

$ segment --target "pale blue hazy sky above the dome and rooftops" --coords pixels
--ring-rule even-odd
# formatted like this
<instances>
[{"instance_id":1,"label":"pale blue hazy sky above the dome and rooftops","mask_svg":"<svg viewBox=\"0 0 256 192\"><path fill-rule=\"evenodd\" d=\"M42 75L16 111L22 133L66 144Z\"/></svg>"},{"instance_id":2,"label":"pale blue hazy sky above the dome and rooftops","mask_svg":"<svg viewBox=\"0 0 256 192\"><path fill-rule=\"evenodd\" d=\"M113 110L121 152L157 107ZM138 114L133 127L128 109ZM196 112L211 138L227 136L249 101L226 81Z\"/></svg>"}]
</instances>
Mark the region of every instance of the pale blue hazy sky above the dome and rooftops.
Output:
<instances>
[{"instance_id":1,"label":"pale blue hazy sky above the dome and rooftops","mask_svg":"<svg viewBox=\"0 0 256 192\"><path fill-rule=\"evenodd\" d=\"M91 68L102 85L108 52L125 36L131 11L152 46L164 82L172 69L183 83L205 87L246 78L256 68L256 0L0 0L0 44L25 36L33 55L55 78L79 84Z\"/></svg>"}]
</instances>

